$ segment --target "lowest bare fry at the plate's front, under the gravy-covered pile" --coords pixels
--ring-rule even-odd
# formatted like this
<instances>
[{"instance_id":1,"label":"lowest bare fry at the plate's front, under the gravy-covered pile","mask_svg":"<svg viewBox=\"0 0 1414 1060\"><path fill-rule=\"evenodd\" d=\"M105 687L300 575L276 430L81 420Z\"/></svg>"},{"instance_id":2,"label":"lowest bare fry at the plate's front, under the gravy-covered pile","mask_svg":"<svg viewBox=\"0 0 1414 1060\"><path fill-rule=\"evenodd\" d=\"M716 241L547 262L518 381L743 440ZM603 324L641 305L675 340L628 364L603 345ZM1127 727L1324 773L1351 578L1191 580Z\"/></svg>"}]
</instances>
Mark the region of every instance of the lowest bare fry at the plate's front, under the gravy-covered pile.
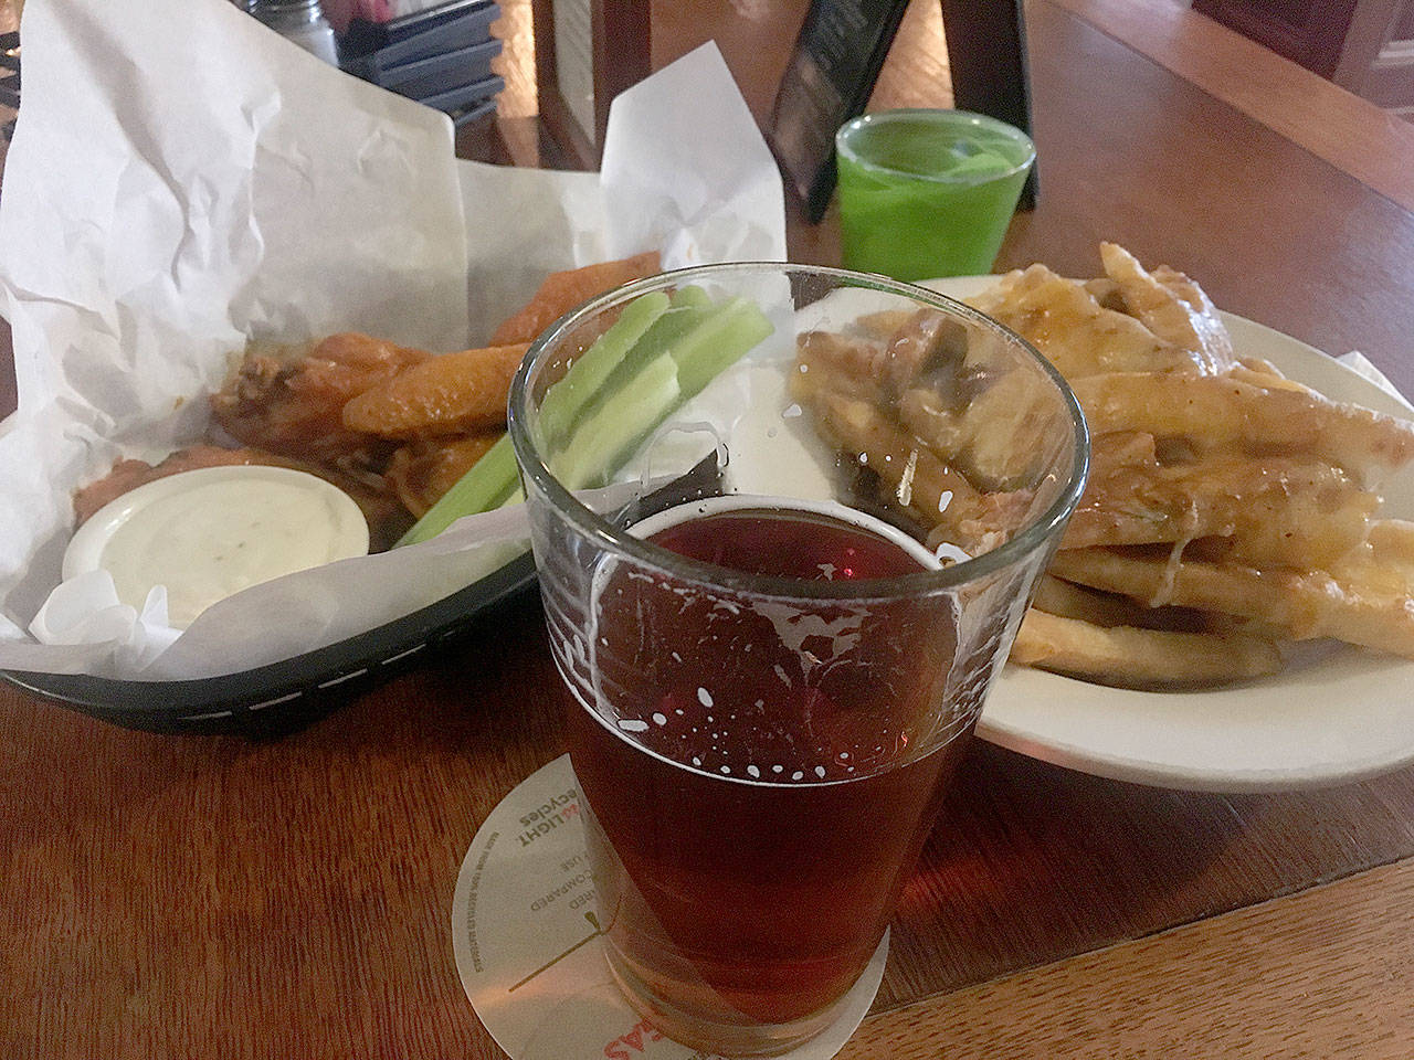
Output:
<instances>
[{"instance_id":1,"label":"lowest bare fry at the plate's front, under the gravy-covered pile","mask_svg":"<svg viewBox=\"0 0 1414 1060\"><path fill-rule=\"evenodd\" d=\"M1011 660L1121 688L1229 684L1281 669L1281 652L1263 637L1104 628L1035 608L1021 623Z\"/></svg>"}]
</instances>

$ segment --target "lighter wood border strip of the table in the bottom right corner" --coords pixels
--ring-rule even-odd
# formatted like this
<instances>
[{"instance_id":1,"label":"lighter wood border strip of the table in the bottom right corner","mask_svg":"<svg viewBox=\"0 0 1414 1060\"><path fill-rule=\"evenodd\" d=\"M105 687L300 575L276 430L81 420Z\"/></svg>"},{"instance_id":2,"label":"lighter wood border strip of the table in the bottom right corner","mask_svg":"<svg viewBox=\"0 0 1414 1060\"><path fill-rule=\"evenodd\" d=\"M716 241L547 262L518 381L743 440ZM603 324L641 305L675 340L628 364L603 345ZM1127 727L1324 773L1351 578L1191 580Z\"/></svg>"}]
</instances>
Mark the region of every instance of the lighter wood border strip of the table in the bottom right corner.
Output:
<instances>
[{"instance_id":1,"label":"lighter wood border strip of the table in the bottom right corner","mask_svg":"<svg viewBox=\"0 0 1414 1060\"><path fill-rule=\"evenodd\" d=\"M840 1060L1407 1060L1411 996L1403 862L871 1016Z\"/></svg>"}]
</instances>

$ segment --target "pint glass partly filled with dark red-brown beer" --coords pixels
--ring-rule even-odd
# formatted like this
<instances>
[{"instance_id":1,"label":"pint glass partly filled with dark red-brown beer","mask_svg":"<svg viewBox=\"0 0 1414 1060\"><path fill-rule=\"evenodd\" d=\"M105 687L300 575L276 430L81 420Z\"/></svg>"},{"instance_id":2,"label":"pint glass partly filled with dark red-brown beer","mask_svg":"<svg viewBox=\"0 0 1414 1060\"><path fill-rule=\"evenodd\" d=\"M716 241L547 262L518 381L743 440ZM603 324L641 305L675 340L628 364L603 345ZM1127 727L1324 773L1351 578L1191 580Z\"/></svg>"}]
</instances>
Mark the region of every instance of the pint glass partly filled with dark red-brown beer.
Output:
<instances>
[{"instance_id":1,"label":"pint glass partly filled with dark red-brown beer","mask_svg":"<svg viewBox=\"0 0 1414 1060\"><path fill-rule=\"evenodd\" d=\"M510 435L614 977L786 1052L936 824L1085 483L1075 397L925 288L728 264L561 318Z\"/></svg>"}]
</instances>

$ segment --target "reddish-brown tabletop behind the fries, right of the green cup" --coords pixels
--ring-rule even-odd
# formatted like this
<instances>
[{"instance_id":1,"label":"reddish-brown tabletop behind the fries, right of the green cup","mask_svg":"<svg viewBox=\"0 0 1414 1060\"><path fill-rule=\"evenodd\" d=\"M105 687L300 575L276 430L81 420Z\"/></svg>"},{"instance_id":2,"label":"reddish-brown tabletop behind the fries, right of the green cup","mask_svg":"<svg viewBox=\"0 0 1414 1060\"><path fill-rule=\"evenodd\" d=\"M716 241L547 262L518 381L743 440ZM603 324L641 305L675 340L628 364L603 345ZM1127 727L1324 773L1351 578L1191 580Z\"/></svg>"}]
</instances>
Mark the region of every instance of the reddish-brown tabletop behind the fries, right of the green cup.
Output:
<instances>
[{"instance_id":1,"label":"reddish-brown tabletop behind the fries, right of the green cup","mask_svg":"<svg viewBox=\"0 0 1414 1060\"><path fill-rule=\"evenodd\" d=\"M1041 199L998 269L1094 276L1110 239L1186 271L1223 310L1332 355L1365 352L1414 393L1410 209L1060 6L1039 0L1027 17ZM1414 154L1389 150L1414 171Z\"/></svg>"}]
</instances>

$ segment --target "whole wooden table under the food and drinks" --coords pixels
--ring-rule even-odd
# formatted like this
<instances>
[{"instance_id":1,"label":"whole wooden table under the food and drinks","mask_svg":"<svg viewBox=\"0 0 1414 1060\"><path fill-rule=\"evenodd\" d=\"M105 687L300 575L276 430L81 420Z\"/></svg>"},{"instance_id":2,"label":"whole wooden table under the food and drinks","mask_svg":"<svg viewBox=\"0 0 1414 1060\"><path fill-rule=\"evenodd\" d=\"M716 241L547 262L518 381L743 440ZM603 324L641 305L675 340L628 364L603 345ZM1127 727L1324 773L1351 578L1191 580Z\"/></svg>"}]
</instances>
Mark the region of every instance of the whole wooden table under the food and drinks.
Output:
<instances>
[{"instance_id":1,"label":"whole wooden table under the food and drinks","mask_svg":"<svg viewBox=\"0 0 1414 1060\"><path fill-rule=\"evenodd\" d=\"M665 3L655 58L715 33L759 114L799 8L713 3ZM877 103L946 102L925 14ZM1086 273L1116 239L1414 390L1414 140L1176 6L1028 17L1042 199L1001 264ZM795 253L829 259L830 232L796 225ZM0 1056L501 1056L450 903L478 824L559 753L542 639L508 615L273 742L0 690ZM1414 769L1225 797L978 743L942 820L844 1056L1414 1054Z\"/></svg>"}]
</instances>

